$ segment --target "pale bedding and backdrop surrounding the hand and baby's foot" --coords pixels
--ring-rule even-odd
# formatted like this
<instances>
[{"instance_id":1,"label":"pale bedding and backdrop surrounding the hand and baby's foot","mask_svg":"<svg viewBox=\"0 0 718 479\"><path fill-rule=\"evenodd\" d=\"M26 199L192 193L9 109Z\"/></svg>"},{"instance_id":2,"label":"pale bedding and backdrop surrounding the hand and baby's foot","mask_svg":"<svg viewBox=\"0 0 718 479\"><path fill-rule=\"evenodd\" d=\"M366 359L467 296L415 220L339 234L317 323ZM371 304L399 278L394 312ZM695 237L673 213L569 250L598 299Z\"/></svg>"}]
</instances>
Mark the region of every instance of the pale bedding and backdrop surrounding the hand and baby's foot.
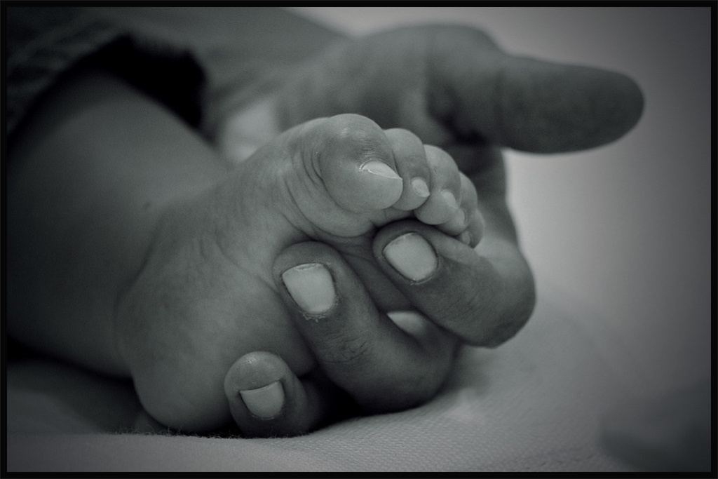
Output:
<instances>
[{"instance_id":1,"label":"pale bedding and backdrop surrounding the hand and baby's foot","mask_svg":"<svg viewBox=\"0 0 718 479\"><path fill-rule=\"evenodd\" d=\"M645 115L590 152L508 152L536 312L500 348L468 349L429 404L292 439L127 434L139 411L129 383L18 363L8 470L631 470L602 449L605 412L712 376L709 11L297 10L354 33L473 24L517 54L631 75Z\"/></svg>"}]
</instances>

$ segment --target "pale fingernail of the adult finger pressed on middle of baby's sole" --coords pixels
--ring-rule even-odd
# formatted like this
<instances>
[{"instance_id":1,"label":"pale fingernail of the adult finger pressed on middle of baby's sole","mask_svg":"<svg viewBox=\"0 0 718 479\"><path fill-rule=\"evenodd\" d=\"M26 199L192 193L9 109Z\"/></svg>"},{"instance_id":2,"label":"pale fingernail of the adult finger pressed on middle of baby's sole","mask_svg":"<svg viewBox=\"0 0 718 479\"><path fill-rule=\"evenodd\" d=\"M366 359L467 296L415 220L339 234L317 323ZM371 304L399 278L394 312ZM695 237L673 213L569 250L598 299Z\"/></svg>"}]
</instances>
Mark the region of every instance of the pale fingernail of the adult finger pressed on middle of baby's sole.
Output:
<instances>
[{"instance_id":1,"label":"pale fingernail of the adult finger pressed on middle of baby's sole","mask_svg":"<svg viewBox=\"0 0 718 479\"><path fill-rule=\"evenodd\" d=\"M281 274L287 291L304 312L318 315L332 309L335 303L332 275L320 263L294 266Z\"/></svg>"}]
</instances>

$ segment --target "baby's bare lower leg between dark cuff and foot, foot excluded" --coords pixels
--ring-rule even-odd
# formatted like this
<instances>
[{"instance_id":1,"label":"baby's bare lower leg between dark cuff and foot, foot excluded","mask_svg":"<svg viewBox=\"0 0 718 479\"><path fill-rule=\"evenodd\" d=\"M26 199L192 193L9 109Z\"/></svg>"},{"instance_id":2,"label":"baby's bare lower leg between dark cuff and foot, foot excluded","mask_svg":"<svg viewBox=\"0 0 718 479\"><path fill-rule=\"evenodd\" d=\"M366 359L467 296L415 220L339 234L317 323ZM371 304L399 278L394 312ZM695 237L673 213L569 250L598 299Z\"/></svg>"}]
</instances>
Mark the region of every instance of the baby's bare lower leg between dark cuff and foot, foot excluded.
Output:
<instances>
[{"instance_id":1,"label":"baby's bare lower leg between dark cuff and foot, foot excluded","mask_svg":"<svg viewBox=\"0 0 718 479\"><path fill-rule=\"evenodd\" d=\"M161 210L226 176L210 145L122 80L62 77L9 144L7 326L24 345L129 376L115 307Z\"/></svg>"}]
</instances>

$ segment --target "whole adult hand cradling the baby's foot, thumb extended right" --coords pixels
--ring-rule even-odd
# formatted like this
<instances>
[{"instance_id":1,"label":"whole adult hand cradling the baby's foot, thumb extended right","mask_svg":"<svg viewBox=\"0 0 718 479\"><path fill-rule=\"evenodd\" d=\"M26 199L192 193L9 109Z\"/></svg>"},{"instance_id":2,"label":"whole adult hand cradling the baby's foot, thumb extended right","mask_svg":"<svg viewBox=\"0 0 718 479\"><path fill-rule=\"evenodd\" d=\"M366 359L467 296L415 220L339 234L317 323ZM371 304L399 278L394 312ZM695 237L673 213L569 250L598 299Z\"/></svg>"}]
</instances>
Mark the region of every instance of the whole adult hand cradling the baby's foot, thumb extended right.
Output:
<instances>
[{"instance_id":1,"label":"whole adult hand cradling the baby's foot, thumb extended right","mask_svg":"<svg viewBox=\"0 0 718 479\"><path fill-rule=\"evenodd\" d=\"M337 394L348 395L363 411L420 404L446 378L456 338L493 347L515 335L531 315L535 291L505 202L500 147L551 153L606 144L635 125L643 96L624 75L513 57L475 29L410 27L328 50L276 96L258 103L251 117L230 118L220 139L230 144L241 136L238 131L271 134L272 128L246 128L258 110L277 129L337 113L359 113L383 128L409 129L452 154L476 187L485 223L475 248L411 220L387 225L377 234L378 264L420 313L399 321L409 334L376 310L336 251L304 243L280 255L277 271L320 259L331 265L340 301L319 322L307 321L297 311L275 275L286 304L297 311L297 325L322 377L299 381L280 358L252 353L230 369L225 385L243 431L297 434L342 409L346 403ZM392 243L396 238L409 241ZM411 274L416 261L401 264L401 259L421 262L432 255L437 258L434 266L419 268L426 275L422 279ZM409 274L401 274L402 269ZM283 405L272 410L273 419L266 419L267 414L260 419L246 406L262 403L257 398L263 393L242 401L236 391L267 386L269 370L281 383L281 395L276 386L271 391ZM327 379L332 387L317 387L317 381L326 385Z\"/></svg>"}]
</instances>

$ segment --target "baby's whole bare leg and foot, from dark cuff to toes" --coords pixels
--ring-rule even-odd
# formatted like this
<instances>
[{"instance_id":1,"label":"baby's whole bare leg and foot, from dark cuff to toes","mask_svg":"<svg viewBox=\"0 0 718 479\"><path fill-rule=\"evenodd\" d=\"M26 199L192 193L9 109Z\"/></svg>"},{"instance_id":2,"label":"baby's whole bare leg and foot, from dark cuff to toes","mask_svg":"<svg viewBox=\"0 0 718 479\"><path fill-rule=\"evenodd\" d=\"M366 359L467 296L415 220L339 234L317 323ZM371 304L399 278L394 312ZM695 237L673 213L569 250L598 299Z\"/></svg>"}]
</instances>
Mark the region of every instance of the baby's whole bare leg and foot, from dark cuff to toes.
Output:
<instances>
[{"instance_id":1,"label":"baby's whole bare leg and foot, from dark cuff to toes","mask_svg":"<svg viewBox=\"0 0 718 479\"><path fill-rule=\"evenodd\" d=\"M11 149L9 333L132 376L163 424L222 427L232 420L223 381L241 355L281 354L299 375L314 366L271 277L279 251L331 241L370 280L376 226L414 214L418 203L417 215L424 208L428 220L448 220L456 208L442 205L442 190L472 209L455 177L434 175L441 159L423 147L403 153L400 135L366 118L327 118L230 171L150 98L111 75L78 71ZM428 199L421 182L416 197L405 188L416 175ZM365 183L380 185L368 190L376 195L363 194ZM380 276L372 284L381 282L389 284ZM378 302L406 306L394 299Z\"/></svg>"}]
</instances>

